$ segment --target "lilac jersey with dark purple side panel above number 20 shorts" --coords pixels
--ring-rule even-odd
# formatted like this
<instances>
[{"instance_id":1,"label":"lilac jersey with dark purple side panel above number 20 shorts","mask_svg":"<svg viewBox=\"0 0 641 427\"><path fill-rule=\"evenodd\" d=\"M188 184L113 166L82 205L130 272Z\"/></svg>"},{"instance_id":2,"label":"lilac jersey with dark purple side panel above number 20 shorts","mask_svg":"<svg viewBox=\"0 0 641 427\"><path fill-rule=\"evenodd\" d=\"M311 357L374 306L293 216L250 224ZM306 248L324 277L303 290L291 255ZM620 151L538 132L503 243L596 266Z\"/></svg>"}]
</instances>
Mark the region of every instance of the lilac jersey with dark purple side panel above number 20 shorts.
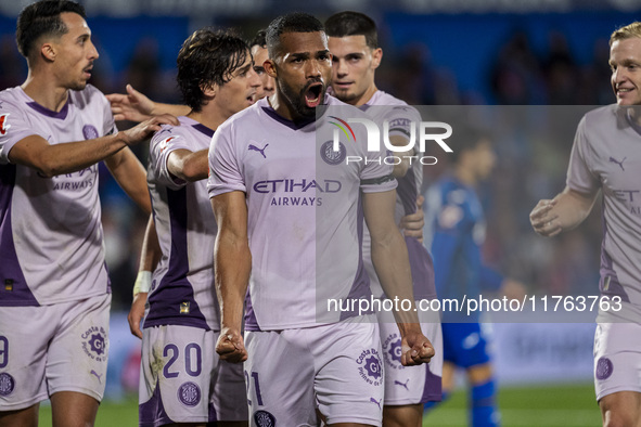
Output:
<instances>
[{"instance_id":1,"label":"lilac jersey with dark purple side panel above number 20 shorts","mask_svg":"<svg viewBox=\"0 0 641 427\"><path fill-rule=\"evenodd\" d=\"M163 257L153 273L144 327L195 326L220 329L214 287L216 219L207 182L184 182L167 169L176 150L207 150L214 131L189 118L163 126L150 145L148 183Z\"/></svg>"}]
</instances>

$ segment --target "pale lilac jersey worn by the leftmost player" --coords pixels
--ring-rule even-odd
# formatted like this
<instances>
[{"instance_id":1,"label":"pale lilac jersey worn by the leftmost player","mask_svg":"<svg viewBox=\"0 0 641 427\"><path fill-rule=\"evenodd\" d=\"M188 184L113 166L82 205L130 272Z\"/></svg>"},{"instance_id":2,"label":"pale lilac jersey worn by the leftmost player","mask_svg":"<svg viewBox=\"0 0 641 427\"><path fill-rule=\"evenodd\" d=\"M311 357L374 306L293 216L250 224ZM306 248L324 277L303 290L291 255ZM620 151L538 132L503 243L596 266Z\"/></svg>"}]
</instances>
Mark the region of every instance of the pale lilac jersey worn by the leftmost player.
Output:
<instances>
[{"instance_id":1,"label":"pale lilac jersey worn by the leftmost player","mask_svg":"<svg viewBox=\"0 0 641 427\"><path fill-rule=\"evenodd\" d=\"M44 178L8 156L34 134L57 144L115 131L108 101L91 85L68 91L57 113L20 87L0 92L0 306L49 305L108 292L98 165Z\"/></svg>"}]
</instances>

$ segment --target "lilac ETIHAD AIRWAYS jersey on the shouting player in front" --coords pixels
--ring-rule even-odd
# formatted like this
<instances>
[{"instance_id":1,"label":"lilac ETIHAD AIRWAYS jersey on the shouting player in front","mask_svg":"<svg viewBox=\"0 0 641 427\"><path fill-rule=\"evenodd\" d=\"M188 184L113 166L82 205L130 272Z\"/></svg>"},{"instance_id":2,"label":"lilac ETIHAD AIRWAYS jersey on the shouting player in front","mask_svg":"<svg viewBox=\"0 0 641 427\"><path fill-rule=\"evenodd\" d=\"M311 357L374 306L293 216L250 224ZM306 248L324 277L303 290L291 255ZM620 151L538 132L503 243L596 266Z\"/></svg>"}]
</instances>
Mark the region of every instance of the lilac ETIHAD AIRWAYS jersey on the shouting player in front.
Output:
<instances>
[{"instance_id":1,"label":"lilac ETIHAD AIRWAYS jersey on the shouting player in front","mask_svg":"<svg viewBox=\"0 0 641 427\"><path fill-rule=\"evenodd\" d=\"M366 117L331 96L328 105L346 118ZM209 196L246 194L248 331L336 322L345 313L329 312L328 299L370 293L360 247L361 192L390 191L396 181L388 165L347 165L346 156L381 153L367 152L363 127L354 127L354 139L342 135L339 150L333 151L329 114L294 124L264 99L232 116L211 141Z\"/></svg>"}]
</instances>

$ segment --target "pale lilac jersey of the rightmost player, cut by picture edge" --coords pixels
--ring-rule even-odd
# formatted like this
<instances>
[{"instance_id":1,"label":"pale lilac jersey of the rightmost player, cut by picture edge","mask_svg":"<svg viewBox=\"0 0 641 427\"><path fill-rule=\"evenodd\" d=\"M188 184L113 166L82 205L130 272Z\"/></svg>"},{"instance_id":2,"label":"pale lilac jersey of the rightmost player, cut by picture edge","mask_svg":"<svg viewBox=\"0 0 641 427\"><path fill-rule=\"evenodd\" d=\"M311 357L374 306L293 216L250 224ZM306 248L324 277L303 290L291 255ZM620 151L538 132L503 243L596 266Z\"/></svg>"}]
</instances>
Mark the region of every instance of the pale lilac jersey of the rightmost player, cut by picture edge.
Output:
<instances>
[{"instance_id":1,"label":"pale lilac jersey of the rightmost player, cut by picture edge","mask_svg":"<svg viewBox=\"0 0 641 427\"><path fill-rule=\"evenodd\" d=\"M567 186L590 195L602 191L601 294L619 296L630 302L619 314L638 322L641 316L641 128L628 113L614 104L584 116L572 150Z\"/></svg>"}]
</instances>

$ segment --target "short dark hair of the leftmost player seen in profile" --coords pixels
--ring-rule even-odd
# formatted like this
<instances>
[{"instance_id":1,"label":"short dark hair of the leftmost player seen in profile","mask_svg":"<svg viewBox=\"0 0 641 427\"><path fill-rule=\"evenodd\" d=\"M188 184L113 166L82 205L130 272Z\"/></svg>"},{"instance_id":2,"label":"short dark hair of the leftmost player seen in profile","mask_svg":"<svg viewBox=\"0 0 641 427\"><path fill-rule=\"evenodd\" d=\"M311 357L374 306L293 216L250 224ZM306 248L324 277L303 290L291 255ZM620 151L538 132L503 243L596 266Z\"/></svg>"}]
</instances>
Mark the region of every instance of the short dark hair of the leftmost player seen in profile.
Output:
<instances>
[{"instance_id":1,"label":"short dark hair of the leftmost player seen in profile","mask_svg":"<svg viewBox=\"0 0 641 427\"><path fill-rule=\"evenodd\" d=\"M15 41L20 53L28 57L34 43L40 37L60 37L66 34L68 28L60 18L60 14L65 12L87 17L82 5L67 0L43 0L23 9L15 28Z\"/></svg>"}]
</instances>

